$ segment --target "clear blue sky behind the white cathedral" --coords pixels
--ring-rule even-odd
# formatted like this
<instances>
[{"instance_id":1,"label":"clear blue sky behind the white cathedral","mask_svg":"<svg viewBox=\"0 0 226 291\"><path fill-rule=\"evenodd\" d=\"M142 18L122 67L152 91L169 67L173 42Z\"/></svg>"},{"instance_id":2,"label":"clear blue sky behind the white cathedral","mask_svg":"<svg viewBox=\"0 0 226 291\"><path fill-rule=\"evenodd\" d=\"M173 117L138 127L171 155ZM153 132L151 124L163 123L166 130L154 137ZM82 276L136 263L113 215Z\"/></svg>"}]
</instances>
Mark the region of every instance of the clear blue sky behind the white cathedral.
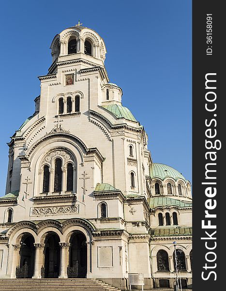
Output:
<instances>
[{"instance_id":1,"label":"clear blue sky behind the white cathedral","mask_svg":"<svg viewBox=\"0 0 226 291\"><path fill-rule=\"evenodd\" d=\"M192 179L192 0L1 2L0 196L8 146L34 112L37 76L51 65L53 37L78 22L98 32L111 82L144 126L154 162Z\"/></svg>"}]
</instances>

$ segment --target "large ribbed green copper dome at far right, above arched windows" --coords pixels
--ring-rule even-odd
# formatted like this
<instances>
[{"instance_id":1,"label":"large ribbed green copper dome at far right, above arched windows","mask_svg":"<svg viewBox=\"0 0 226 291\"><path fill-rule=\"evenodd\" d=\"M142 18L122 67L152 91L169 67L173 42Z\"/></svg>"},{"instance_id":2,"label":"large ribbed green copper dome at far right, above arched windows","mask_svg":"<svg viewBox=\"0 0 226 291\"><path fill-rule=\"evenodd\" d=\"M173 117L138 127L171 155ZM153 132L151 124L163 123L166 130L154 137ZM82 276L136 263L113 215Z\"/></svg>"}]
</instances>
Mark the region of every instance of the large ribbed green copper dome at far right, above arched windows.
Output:
<instances>
[{"instance_id":1,"label":"large ribbed green copper dome at far right, above arched windows","mask_svg":"<svg viewBox=\"0 0 226 291\"><path fill-rule=\"evenodd\" d=\"M183 175L175 170L174 168L167 166L165 164L153 162L150 167L151 178L160 178L164 180L165 178L174 178L175 180L183 179L187 181Z\"/></svg>"}]
</instances>

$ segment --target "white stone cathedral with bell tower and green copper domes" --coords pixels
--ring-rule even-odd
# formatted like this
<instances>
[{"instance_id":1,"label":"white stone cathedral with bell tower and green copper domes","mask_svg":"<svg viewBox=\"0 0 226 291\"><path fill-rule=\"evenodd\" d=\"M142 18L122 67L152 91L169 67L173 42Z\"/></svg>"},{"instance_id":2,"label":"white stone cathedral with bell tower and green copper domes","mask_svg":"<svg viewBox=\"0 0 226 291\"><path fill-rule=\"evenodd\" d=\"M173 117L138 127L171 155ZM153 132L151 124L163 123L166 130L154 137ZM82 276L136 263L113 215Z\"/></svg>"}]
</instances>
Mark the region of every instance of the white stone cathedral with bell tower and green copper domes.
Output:
<instances>
[{"instance_id":1,"label":"white stone cathedral with bell tower and green copper domes","mask_svg":"<svg viewBox=\"0 0 226 291\"><path fill-rule=\"evenodd\" d=\"M138 275L144 289L189 288L191 183L152 161L97 32L79 23L50 49L35 112L8 143L0 278L96 278L128 290Z\"/></svg>"}]
</instances>

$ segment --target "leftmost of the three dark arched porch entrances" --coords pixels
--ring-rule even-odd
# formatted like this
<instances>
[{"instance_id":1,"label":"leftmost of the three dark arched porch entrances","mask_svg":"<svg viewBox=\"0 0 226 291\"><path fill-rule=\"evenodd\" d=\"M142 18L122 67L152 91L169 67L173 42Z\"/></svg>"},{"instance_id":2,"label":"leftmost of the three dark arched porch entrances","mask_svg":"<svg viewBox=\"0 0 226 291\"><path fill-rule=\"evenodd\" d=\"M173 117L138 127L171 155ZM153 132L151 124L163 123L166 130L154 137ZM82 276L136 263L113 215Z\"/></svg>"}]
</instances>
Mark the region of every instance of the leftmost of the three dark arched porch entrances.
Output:
<instances>
[{"instance_id":1,"label":"leftmost of the three dark arched porch entrances","mask_svg":"<svg viewBox=\"0 0 226 291\"><path fill-rule=\"evenodd\" d=\"M34 273L34 238L24 234L20 241L19 265L16 267L16 278L31 278Z\"/></svg>"}]
</instances>

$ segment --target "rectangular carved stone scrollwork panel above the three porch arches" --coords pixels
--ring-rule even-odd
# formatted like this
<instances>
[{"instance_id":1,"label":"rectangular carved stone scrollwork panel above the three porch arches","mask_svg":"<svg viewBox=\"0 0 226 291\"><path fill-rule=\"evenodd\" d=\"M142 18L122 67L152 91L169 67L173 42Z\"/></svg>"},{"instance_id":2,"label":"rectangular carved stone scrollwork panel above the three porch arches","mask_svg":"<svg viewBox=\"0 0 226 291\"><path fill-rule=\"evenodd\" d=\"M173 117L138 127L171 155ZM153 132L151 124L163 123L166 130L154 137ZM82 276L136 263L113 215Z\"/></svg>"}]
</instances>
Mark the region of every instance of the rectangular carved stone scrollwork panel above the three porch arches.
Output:
<instances>
[{"instance_id":1,"label":"rectangular carved stone scrollwork panel above the three porch arches","mask_svg":"<svg viewBox=\"0 0 226 291\"><path fill-rule=\"evenodd\" d=\"M52 215L62 213L79 213L79 206L53 206L53 207L40 207L31 210L32 215Z\"/></svg>"}]
</instances>

